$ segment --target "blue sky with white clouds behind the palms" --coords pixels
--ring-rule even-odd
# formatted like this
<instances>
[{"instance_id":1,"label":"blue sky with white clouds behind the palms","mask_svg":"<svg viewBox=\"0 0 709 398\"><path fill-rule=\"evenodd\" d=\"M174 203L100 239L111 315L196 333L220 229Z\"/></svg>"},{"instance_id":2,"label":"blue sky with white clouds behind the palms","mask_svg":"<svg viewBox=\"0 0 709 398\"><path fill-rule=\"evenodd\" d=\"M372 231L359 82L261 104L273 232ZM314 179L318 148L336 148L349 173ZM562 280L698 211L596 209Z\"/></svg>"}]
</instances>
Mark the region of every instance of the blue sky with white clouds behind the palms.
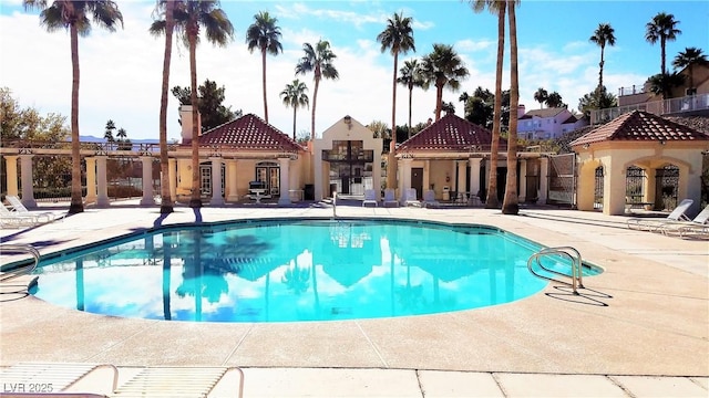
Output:
<instances>
[{"instance_id":1,"label":"blue sky with white clouds behind the palms","mask_svg":"<svg viewBox=\"0 0 709 398\"><path fill-rule=\"evenodd\" d=\"M94 27L79 39L81 87L80 134L103 137L109 119L131 139L157 139L164 39L148 34L154 0L117 1L124 27L106 32ZM225 87L224 105L264 117L261 59L249 53L245 33L259 11L278 19L282 53L267 56L269 123L292 134L292 108L279 96L295 78L305 82L312 104L312 74L295 75L304 43L328 40L337 55L336 81L320 83L316 108L319 136L350 115L368 125L380 121L391 126L393 56L381 51L377 35L394 13L412 19L415 52L400 54L403 61L421 59L434 43L453 45L470 72L460 90L444 90L443 101L453 102L459 116L463 92L477 86L494 92L497 43L496 17L474 13L467 1L236 1L222 0L234 24L234 39L225 48L203 40L197 49L197 82L206 78ZM643 85L660 72L659 43L645 41L646 24L658 12L671 13L681 34L667 44L667 64L686 48L709 53L708 1L543 1L523 0L517 9L520 103L540 108L534 92L543 87L558 92L569 109L598 84L600 48L589 42L599 23L615 29L615 46L606 46L604 84L618 88ZM39 12L25 11L21 0L0 0L0 87L8 87L21 107L40 114L71 115L71 52L66 31L49 33L40 25ZM507 44L508 45L508 40ZM510 85L508 46L505 52L503 88ZM169 86L189 85L188 51L175 41ZM405 125L409 92L397 87L397 125ZM168 140L181 139L178 102L169 95ZM435 88L414 88L412 123L433 117ZM297 135L310 133L311 109L298 109Z\"/></svg>"}]
</instances>

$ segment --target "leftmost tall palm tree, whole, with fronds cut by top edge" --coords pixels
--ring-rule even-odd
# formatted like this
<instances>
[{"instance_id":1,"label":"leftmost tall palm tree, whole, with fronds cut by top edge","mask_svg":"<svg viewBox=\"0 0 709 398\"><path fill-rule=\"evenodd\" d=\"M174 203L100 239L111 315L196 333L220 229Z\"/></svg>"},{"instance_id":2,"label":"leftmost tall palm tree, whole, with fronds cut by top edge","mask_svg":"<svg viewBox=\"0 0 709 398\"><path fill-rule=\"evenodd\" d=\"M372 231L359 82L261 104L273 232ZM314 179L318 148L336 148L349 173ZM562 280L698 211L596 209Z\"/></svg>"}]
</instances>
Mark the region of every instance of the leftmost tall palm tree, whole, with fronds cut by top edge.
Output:
<instances>
[{"instance_id":1,"label":"leftmost tall palm tree, whole, with fronds cut by top edge","mask_svg":"<svg viewBox=\"0 0 709 398\"><path fill-rule=\"evenodd\" d=\"M69 30L71 46L72 85L71 85L71 203L69 213L84 211L81 190L81 151L79 135L79 35L88 35L91 32L91 20L106 29L115 32L115 27L121 22L123 27L123 14L119 6L110 0L94 1L72 1L55 0L49 4L48 0L23 0L25 10L40 10L40 24L47 28L48 32Z\"/></svg>"}]
</instances>

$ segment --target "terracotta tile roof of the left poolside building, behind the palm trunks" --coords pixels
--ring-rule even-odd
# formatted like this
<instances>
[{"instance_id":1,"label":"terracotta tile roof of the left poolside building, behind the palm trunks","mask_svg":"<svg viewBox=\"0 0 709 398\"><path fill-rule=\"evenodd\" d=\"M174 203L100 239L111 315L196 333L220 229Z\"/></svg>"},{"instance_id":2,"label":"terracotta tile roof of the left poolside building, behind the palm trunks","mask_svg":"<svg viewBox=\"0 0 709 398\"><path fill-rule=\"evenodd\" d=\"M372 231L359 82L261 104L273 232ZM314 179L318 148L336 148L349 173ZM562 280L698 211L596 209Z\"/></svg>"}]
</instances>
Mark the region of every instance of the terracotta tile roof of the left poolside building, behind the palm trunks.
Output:
<instances>
[{"instance_id":1,"label":"terracotta tile roof of the left poolside building, behind the palm trunks","mask_svg":"<svg viewBox=\"0 0 709 398\"><path fill-rule=\"evenodd\" d=\"M260 117L248 114L205 132L199 146L229 146L235 149L298 151L304 148Z\"/></svg>"}]
</instances>

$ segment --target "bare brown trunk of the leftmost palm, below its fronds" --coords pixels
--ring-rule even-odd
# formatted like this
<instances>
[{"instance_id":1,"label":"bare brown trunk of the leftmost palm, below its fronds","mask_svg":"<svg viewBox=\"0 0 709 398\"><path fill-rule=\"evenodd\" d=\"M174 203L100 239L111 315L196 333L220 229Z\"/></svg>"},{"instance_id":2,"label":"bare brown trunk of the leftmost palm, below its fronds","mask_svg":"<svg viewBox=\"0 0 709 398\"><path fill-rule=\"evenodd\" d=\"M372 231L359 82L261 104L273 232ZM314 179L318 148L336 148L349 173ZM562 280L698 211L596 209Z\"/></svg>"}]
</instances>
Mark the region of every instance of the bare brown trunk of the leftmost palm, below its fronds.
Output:
<instances>
[{"instance_id":1,"label":"bare brown trunk of the leftmost palm, below its fronds","mask_svg":"<svg viewBox=\"0 0 709 398\"><path fill-rule=\"evenodd\" d=\"M74 23L69 28L71 38L71 203L69 213L84 211L81 196L81 143L79 135L79 31Z\"/></svg>"}]
</instances>

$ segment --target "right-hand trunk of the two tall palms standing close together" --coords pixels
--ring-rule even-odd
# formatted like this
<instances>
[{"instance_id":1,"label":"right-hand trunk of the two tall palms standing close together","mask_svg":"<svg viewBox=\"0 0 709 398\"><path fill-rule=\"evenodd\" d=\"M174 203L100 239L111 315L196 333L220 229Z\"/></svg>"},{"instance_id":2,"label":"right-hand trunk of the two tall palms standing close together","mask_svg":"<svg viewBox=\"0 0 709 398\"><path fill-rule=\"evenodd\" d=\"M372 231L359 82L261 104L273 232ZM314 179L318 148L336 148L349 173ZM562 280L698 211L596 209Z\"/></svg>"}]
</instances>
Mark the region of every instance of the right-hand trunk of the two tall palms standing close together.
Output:
<instances>
[{"instance_id":1,"label":"right-hand trunk of the two tall palms standing close together","mask_svg":"<svg viewBox=\"0 0 709 398\"><path fill-rule=\"evenodd\" d=\"M510 7L510 132L507 134L507 185L502 202L503 214L517 214L517 106L520 105L520 80L517 74L517 21L514 1Z\"/></svg>"}]
</instances>

